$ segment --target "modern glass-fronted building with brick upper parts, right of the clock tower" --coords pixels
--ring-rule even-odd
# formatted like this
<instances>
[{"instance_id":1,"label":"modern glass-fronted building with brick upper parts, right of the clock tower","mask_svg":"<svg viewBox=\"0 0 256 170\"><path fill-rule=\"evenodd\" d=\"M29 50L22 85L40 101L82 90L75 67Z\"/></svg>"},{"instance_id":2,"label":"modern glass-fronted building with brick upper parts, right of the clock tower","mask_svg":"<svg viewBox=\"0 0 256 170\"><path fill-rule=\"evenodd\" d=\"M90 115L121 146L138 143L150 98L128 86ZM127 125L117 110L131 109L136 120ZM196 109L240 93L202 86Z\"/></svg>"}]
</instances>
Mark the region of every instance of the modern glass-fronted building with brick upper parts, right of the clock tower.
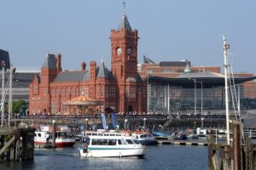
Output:
<instances>
[{"instance_id":1,"label":"modern glass-fronted building with brick upper parts, right of the clock tower","mask_svg":"<svg viewBox=\"0 0 256 170\"><path fill-rule=\"evenodd\" d=\"M138 66L138 71L148 84L149 112L190 110L197 114L201 111L224 110L224 75L219 66L191 66L188 60L156 64L144 56L144 63ZM253 74L234 73L233 77L241 110L256 109Z\"/></svg>"}]
</instances>

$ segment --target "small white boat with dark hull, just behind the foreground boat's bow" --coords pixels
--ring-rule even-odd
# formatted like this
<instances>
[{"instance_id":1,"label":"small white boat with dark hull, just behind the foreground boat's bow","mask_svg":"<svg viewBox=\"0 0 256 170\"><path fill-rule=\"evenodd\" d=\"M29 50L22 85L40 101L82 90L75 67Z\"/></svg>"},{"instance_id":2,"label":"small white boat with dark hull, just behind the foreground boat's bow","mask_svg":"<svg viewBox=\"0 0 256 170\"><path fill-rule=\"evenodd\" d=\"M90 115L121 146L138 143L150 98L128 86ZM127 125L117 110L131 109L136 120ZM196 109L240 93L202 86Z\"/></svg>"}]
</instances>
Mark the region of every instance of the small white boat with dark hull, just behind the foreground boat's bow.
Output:
<instances>
[{"instance_id":1,"label":"small white boat with dark hull, just behind the foreground boat's bow","mask_svg":"<svg viewBox=\"0 0 256 170\"><path fill-rule=\"evenodd\" d=\"M157 144L156 139L154 139L151 133L132 133L132 139L137 139L143 145L155 145Z\"/></svg>"}]
</instances>

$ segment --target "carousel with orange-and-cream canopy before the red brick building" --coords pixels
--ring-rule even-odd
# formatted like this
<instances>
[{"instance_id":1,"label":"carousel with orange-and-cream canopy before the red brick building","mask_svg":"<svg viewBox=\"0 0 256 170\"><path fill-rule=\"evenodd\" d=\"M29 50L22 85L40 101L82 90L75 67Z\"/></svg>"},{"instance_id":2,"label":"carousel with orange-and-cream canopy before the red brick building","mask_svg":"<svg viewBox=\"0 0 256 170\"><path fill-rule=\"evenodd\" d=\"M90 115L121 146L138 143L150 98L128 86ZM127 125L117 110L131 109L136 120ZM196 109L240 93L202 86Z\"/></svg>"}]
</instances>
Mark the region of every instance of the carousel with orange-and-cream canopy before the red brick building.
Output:
<instances>
[{"instance_id":1,"label":"carousel with orange-and-cream canopy before the red brick building","mask_svg":"<svg viewBox=\"0 0 256 170\"><path fill-rule=\"evenodd\" d=\"M101 111L101 106L103 102L97 99L90 99L81 95L77 98L64 101L65 105L65 115L85 115L85 114L95 114L97 111Z\"/></svg>"}]
</instances>

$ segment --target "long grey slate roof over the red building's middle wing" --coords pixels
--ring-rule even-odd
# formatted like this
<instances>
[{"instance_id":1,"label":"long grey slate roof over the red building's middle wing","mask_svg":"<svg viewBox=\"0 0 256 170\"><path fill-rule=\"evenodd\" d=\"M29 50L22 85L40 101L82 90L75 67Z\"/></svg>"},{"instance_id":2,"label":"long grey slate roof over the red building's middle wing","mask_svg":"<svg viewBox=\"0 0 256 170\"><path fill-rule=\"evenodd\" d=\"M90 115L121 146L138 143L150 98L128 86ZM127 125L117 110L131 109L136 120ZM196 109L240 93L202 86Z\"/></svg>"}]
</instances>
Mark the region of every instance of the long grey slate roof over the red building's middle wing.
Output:
<instances>
[{"instance_id":1,"label":"long grey slate roof over the red building's middle wing","mask_svg":"<svg viewBox=\"0 0 256 170\"><path fill-rule=\"evenodd\" d=\"M88 71L63 71L57 75L54 82L82 82L89 79Z\"/></svg>"}]
</instances>

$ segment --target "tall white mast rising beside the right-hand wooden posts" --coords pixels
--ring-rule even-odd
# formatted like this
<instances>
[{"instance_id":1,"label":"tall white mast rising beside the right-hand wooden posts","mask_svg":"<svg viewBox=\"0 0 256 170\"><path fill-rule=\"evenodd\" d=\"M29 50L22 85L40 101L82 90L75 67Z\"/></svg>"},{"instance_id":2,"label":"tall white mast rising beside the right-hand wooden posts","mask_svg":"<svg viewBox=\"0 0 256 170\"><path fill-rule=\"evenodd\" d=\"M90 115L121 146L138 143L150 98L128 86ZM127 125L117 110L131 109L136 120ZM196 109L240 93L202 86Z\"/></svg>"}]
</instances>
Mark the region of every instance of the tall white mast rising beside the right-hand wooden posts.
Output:
<instances>
[{"instance_id":1,"label":"tall white mast rising beside the right-hand wooden posts","mask_svg":"<svg viewBox=\"0 0 256 170\"><path fill-rule=\"evenodd\" d=\"M230 45L224 40L224 76L225 76L225 106L226 106L226 135L227 144L230 144L230 110L229 110L229 93L228 93L228 50Z\"/></svg>"}]
</instances>

